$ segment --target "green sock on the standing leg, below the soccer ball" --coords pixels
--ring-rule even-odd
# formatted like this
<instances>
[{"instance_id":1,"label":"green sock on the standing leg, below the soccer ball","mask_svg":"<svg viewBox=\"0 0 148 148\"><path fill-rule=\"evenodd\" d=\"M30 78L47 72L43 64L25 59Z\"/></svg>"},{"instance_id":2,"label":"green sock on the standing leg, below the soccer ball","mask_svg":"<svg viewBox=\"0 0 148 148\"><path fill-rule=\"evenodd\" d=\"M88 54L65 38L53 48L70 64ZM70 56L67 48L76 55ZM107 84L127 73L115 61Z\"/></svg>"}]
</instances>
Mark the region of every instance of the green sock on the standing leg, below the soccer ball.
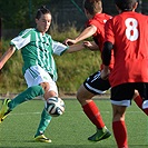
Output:
<instances>
[{"instance_id":1,"label":"green sock on the standing leg, below the soccer ball","mask_svg":"<svg viewBox=\"0 0 148 148\"><path fill-rule=\"evenodd\" d=\"M40 120L40 124L39 124L39 127L37 129L37 132L34 135L34 137L37 137L37 136L45 132L45 130L47 129L51 118L52 117L43 109L42 114L41 114L41 120Z\"/></svg>"}]
</instances>

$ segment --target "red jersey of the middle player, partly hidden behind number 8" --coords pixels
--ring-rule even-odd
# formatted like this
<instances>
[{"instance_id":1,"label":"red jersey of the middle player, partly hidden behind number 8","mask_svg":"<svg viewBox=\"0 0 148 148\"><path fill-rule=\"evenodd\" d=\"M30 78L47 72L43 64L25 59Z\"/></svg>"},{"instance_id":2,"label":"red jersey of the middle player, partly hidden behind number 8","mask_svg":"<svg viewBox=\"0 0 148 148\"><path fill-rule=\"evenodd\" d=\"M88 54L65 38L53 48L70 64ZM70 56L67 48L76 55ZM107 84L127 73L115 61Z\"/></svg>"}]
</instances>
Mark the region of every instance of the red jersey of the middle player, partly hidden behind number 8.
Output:
<instances>
[{"instance_id":1,"label":"red jersey of the middle player, partly hidden behind number 8","mask_svg":"<svg viewBox=\"0 0 148 148\"><path fill-rule=\"evenodd\" d=\"M96 33L92 36L95 42L98 45L100 52L102 51L103 42L105 42L105 23L107 20L111 19L112 17L106 13L96 13L96 16L88 20L87 27L95 26L97 28ZM114 58L110 63L110 69L114 67ZM101 66L102 69L102 66Z\"/></svg>"}]
</instances>

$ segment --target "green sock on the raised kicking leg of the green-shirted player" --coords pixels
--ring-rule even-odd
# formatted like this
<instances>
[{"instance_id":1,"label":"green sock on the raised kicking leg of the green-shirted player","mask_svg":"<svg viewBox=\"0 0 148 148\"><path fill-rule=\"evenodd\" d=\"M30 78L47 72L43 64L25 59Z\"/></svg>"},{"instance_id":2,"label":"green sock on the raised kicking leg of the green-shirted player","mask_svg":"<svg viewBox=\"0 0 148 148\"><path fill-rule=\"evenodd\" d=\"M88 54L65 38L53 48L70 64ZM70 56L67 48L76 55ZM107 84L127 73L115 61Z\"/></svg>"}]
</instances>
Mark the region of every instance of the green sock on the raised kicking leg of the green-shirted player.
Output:
<instances>
[{"instance_id":1,"label":"green sock on the raised kicking leg of the green-shirted player","mask_svg":"<svg viewBox=\"0 0 148 148\"><path fill-rule=\"evenodd\" d=\"M31 100L34 97L41 96L43 93L45 93L45 91L43 91L42 87L40 87L40 86L29 87L27 90L24 90L23 92L18 95L16 98L13 98L8 103L8 107L9 107L10 110L12 110L18 105L20 105L24 101Z\"/></svg>"}]
</instances>

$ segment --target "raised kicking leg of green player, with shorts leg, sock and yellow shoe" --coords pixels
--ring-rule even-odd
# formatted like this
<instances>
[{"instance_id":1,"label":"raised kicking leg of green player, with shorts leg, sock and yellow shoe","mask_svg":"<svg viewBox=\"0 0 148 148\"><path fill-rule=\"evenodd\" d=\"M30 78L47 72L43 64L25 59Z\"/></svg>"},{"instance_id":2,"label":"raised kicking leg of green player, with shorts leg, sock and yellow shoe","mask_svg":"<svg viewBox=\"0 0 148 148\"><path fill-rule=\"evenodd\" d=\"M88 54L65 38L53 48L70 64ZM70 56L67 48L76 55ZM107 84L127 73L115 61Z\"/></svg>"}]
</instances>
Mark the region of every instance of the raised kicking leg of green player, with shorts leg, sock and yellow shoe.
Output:
<instances>
[{"instance_id":1,"label":"raised kicking leg of green player, with shorts leg, sock and yellow shoe","mask_svg":"<svg viewBox=\"0 0 148 148\"><path fill-rule=\"evenodd\" d=\"M8 116L8 114L18 105L31 100L34 97L42 96L45 90L38 82L40 80L40 76L42 73L42 69L38 67L31 67L26 70L24 79L28 85L28 89L18 95L12 100L6 99L3 101L1 111L0 111L0 122ZM45 77L46 78L46 77Z\"/></svg>"}]
</instances>

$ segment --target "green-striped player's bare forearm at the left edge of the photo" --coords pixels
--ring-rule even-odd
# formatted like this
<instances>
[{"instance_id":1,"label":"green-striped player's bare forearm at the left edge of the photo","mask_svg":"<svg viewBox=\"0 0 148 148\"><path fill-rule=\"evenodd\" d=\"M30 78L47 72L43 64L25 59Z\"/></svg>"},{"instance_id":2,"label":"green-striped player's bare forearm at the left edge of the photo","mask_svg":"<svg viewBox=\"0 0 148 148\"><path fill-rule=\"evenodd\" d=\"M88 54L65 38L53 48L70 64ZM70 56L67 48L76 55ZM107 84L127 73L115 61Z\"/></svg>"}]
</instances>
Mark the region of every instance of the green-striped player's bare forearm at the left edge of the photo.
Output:
<instances>
[{"instance_id":1,"label":"green-striped player's bare forearm at the left edge of the photo","mask_svg":"<svg viewBox=\"0 0 148 148\"><path fill-rule=\"evenodd\" d=\"M9 58L13 55L16 51L14 46L10 46L9 49L3 53L3 56L0 58L0 69L4 66L4 63L9 60Z\"/></svg>"}]
</instances>

